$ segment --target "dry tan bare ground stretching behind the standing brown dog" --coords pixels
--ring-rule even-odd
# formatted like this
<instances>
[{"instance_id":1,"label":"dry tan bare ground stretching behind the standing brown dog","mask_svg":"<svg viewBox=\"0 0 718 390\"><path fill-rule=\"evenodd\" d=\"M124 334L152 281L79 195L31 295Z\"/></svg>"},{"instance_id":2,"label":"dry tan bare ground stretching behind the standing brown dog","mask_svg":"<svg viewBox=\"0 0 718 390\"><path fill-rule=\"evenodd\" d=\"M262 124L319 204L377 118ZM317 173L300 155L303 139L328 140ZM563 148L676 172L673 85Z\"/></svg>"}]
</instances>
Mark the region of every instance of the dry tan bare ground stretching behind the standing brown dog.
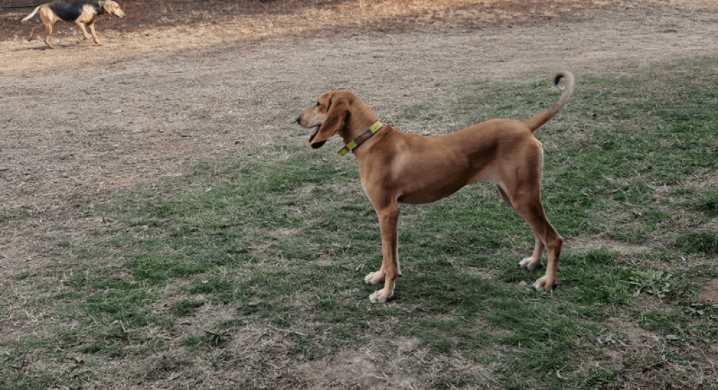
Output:
<instances>
[{"instance_id":1,"label":"dry tan bare ground stretching behind the standing brown dog","mask_svg":"<svg viewBox=\"0 0 718 390\"><path fill-rule=\"evenodd\" d=\"M98 23L104 46L60 24L58 50L25 40L31 8L0 10L0 284L102 223L76 205L306 142L293 120L329 88L382 116L459 80L718 52L709 0L118 2L127 17Z\"/></svg>"}]
</instances>

